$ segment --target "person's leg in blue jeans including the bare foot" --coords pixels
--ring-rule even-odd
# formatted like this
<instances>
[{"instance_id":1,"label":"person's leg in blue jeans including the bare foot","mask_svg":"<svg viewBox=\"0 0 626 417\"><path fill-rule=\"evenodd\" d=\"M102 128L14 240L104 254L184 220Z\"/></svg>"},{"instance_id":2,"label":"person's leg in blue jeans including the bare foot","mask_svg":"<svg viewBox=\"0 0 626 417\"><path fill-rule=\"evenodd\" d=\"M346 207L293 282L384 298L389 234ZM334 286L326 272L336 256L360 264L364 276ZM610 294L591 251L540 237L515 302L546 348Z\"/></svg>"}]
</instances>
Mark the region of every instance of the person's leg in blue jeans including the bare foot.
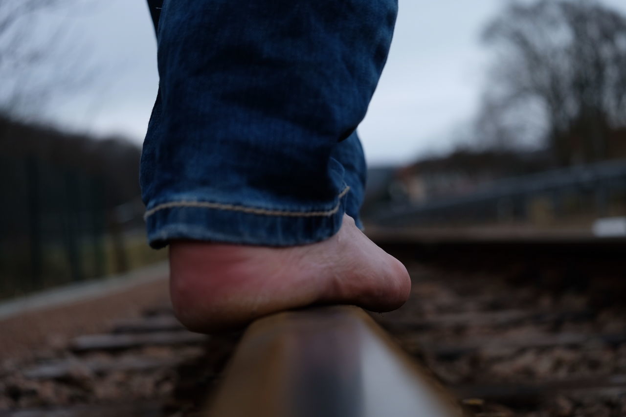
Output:
<instances>
[{"instance_id":1,"label":"person's leg in blue jeans including the bare foot","mask_svg":"<svg viewBox=\"0 0 626 417\"><path fill-rule=\"evenodd\" d=\"M344 215L362 198L354 130L395 13L393 0L165 1L141 185L184 324L404 302L404 267Z\"/></svg>"}]
</instances>

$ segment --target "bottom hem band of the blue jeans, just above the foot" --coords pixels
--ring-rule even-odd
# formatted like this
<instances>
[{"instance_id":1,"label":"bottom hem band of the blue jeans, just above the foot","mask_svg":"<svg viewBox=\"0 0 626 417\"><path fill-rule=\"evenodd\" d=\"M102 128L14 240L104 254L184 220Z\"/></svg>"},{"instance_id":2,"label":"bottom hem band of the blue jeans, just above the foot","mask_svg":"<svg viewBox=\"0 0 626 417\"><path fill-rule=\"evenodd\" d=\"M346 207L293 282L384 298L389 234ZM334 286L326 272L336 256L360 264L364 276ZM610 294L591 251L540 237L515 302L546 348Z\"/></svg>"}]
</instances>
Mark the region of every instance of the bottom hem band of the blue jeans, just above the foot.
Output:
<instances>
[{"instance_id":1,"label":"bottom hem band of the blue jeans, just above the foot","mask_svg":"<svg viewBox=\"0 0 626 417\"><path fill-rule=\"evenodd\" d=\"M327 207L297 211L199 200L154 203L145 214L148 242L155 249L175 239L276 247L320 242L339 231L349 189Z\"/></svg>"}]
</instances>

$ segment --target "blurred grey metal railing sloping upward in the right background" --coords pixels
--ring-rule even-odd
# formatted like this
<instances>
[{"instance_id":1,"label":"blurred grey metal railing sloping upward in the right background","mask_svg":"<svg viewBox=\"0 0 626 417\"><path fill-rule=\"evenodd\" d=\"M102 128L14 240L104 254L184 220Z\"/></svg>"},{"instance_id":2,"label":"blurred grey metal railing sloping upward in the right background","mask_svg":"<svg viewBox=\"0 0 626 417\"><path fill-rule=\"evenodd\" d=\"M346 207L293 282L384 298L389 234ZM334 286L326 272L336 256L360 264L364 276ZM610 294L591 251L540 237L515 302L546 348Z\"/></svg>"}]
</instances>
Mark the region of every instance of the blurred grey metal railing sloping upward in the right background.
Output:
<instances>
[{"instance_id":1,"label":"blurred grey metal railing sloping upward in the right background","mask_svg":"<svg viewBox=\"0 0 626 417\"><path fill-rule=\"evenodd\" d=\"M421 203L389 203L371 214L386 226L432 225L433 222L526 220L529 203L536 198L550 202L557 217L565 215L565 200L577 196L589 200L593 212L606 215L611 196L623 201L626 193L626 161L550 170L486 183L464 195L452 195Z\"/></svg>"}]
</instances>

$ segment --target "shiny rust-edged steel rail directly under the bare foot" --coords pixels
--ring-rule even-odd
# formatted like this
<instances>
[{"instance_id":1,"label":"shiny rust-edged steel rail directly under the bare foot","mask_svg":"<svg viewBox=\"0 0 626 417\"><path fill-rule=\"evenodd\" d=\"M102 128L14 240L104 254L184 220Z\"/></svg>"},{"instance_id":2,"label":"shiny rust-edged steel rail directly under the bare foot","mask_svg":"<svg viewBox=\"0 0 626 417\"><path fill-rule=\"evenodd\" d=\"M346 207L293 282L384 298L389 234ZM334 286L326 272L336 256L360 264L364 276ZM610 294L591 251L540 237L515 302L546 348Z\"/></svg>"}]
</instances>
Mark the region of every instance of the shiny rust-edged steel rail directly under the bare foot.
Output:
<instances>
[{"instance_id":1,"label":"shiny rust-edged steel rail directly under the bare foot","mask_svg":"<svg viewBox=\"0 0 626 417\"><path fill-rule=\"evenodd\" d=\"M448 393L357 307L282 312L245 332L203 416L459 416Z\"/></svg>"}]
</instances>

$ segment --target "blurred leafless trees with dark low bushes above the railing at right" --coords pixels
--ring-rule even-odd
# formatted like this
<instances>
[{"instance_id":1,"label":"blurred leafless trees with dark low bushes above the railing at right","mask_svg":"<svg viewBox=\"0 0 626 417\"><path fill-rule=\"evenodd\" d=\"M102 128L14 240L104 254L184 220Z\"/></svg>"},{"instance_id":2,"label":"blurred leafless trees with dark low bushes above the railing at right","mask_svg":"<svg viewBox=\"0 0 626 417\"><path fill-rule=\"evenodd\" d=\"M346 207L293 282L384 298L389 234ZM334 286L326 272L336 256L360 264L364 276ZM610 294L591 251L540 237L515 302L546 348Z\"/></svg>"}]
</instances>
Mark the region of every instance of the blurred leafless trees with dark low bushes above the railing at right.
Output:
<instances>
[{"instance_id":1,"label":"blurred leafless trees with dark low bushes above the railing at right","mask_svg":"<svg viewBox=\"0 0 626 417\"><path fill-rule=\"evenodd\" d=\"M624 14L595 0L510 1L481 41L492 55L475 117L449 159L418 165L510 176L626 158Z\"/></svg>"}]
</instances>

